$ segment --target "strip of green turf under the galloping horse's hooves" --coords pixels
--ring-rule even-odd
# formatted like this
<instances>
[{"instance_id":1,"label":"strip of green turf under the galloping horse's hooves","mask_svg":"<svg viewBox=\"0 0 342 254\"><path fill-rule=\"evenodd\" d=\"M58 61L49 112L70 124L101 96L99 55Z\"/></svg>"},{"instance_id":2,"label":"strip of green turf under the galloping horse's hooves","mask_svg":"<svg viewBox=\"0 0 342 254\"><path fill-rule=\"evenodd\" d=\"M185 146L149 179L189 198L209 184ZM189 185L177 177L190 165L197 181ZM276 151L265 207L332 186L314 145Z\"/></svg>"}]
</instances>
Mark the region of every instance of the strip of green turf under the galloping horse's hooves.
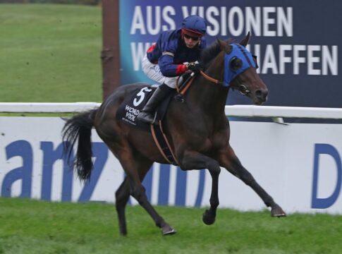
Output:
<instances>
[{"instance_id":1,"label":"strip of green turf under the galloping horse's hooves","mask_svg":"<svg viewBox=\"0 0 342 254\"><path fill-rule=\"evenodd\" d=\"M157 207L178 233L161 236L142 207L128 207L128 236L118 234L114 205L0 198L0 253L341 253L342 217L268 211Z\"/></svg>"}]
</instances>

